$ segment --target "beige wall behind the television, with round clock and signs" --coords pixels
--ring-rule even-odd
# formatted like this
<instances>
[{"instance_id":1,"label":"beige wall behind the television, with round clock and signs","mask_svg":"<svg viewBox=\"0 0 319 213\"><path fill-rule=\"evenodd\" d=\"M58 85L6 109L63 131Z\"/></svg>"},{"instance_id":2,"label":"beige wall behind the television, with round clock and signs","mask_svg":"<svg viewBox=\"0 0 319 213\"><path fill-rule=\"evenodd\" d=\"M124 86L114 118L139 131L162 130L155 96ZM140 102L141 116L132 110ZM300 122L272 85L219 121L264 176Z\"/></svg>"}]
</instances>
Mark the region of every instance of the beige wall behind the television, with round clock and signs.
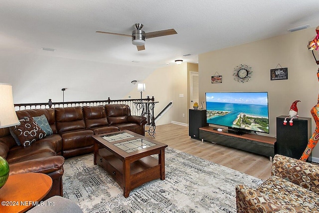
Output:
<instances>
[{"instance_id":1,"label":"beige wall behind the television, with round clock and signs","mask_svg":"<svg viewBox=\"0 0 319 213\"><path fill-rule=\"evenodd\" d=\"M307 44L315 35L315 28L311 28L200 54L199 100L205 99L205 92L212 91L268 91L268 136L271 137L276 136L276 117L288 115L295 100L301 100L298 103L299 115L312 117L310 109L316 105L319 92L318 65ZM270 80L270 69L276 68L278 63L288 67L288 80ZM233 70L240 64L247 64L253 70L252 79L246 83L233 79ZM212 84L211 76L216 71L222 75L222 83ZM319 158L319 146L313 151L313 157Z\"/></svg>"}]
</instances>

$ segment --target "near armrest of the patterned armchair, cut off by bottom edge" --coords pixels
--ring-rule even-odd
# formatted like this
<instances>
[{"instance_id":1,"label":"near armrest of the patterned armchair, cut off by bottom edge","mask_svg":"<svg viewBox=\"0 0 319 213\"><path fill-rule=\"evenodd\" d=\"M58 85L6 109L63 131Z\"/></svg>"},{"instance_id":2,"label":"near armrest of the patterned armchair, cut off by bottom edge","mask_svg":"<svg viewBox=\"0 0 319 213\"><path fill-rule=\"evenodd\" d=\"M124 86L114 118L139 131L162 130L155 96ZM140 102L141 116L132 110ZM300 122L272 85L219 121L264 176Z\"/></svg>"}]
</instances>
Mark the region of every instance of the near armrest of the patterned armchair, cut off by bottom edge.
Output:
<instances>
[{"instance_id":1,"label":"near armrest of the patterned armchair, cut off by bottom edge","mask_svg":"<svg viewBox=\"0 0 319 213\"><path fill-rule=\"evenodd\" d=\"M277 201L245 185L236 186L237 213L288 213Z\"/></svg>"}]
</instances>

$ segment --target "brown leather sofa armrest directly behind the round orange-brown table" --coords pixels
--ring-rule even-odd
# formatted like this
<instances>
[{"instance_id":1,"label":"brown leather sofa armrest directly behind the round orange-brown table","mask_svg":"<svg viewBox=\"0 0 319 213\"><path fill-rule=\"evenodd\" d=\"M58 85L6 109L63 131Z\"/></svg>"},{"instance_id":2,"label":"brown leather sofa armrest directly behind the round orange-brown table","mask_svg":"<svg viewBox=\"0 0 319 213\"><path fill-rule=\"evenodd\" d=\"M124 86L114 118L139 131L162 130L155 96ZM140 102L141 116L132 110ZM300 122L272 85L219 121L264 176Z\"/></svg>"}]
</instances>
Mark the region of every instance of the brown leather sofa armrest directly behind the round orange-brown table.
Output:
<instances>
[{"instance_id":1,"label":"brown leather sofa armrest directly behind the round orange-brown table","mask_svg":"<svg viewBox=\"0 0 319 213\"><path fill-rule=\"evenodd\" d=\"M63 169L64 158L51 156L9 164L10 175L38 172L48 174Z\"/></svg>"}]
</instances>

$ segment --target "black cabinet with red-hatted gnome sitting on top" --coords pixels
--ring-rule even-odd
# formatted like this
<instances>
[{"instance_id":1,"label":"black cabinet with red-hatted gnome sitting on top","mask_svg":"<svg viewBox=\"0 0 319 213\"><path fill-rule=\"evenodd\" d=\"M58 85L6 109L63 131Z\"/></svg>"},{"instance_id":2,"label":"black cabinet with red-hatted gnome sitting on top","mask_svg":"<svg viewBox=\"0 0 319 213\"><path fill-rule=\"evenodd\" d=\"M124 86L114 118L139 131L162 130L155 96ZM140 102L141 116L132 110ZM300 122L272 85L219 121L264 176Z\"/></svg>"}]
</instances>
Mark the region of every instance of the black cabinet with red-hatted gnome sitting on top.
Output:
<instances>
[{"instance_id":1,"label":"black cabinet with red-hatted gnome sitting on top","mask_svg":"<svg viewBox=\"0 0 319 213\"><path fill-rule=\"evenodd\" d=\"M283 124L285 117L287 116L277 117L275 154L300 159L312 135L311 118L299 117L298 119L293 119L294 125L290 126L290 118L286 119L287 125Z\"/></svg>"}]
</instances>

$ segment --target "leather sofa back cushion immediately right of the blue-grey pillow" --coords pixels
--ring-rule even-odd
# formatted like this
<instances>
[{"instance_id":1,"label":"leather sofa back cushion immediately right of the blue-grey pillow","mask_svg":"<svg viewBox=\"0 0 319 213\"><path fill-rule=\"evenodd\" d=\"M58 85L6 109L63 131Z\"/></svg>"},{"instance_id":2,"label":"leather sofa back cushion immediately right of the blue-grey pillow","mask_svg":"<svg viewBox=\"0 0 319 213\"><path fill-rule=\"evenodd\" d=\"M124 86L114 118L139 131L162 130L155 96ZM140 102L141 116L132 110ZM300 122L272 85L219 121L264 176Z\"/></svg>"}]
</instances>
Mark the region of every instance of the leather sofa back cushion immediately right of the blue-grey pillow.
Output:
<instances>
[{"instance_id":1,"label":"leather sofa back cushion immediately right of the blue-grey pillow","mask_svg":"<svg viewBox=\"0 0 319 213\"><path fill-rule=\"evenodd\" d=\"M58 132L85 129L82 107L55 108Z\"/></svg>"}]
</instances>

